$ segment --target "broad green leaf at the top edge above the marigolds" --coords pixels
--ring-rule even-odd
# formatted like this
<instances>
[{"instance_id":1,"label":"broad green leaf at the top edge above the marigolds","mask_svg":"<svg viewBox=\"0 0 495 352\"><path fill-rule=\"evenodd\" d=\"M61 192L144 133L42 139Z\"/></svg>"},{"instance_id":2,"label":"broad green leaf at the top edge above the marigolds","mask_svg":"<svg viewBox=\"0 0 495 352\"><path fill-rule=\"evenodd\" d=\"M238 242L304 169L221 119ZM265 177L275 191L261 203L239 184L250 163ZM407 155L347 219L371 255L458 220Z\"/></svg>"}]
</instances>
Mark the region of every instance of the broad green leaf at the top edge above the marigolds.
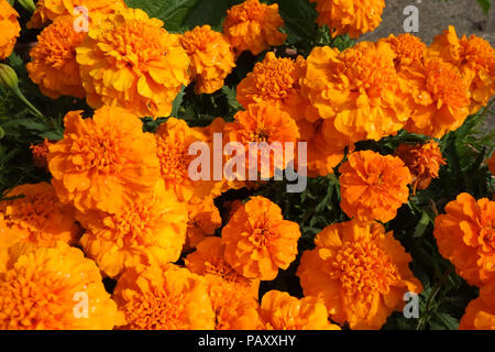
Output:
<instances>
[{"instance_id":1,"label":"broad green leaf at the top edge above the marigolds","mask_svg":"<svg viewBox=\"0 0 495 352\"><path fill-rule=\"evenodd\" d=\"M161 19L165 23L165 29L170 32L183 30L184 22L198 1L201 0L125 0L130 8L142 9L151 18Z\"/></svg>"}]
</instances>

